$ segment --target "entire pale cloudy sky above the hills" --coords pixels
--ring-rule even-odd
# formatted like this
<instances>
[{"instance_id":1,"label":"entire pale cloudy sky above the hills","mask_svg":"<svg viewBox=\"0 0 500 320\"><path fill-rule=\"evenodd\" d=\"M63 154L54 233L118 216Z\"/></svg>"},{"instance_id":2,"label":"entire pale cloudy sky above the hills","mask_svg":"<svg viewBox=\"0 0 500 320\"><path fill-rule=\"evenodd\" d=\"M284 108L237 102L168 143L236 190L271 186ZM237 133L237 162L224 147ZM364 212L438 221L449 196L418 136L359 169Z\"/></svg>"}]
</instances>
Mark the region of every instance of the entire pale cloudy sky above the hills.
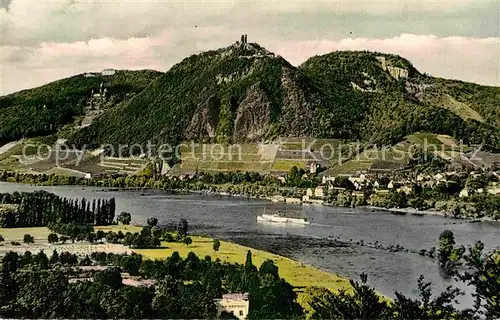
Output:
<instances>
[{"instance_id":1,"label":"entire pale cloudy sky above the hills","mask_svg":"<svg viewBox=\"0 0 500 320\"><path fill-rule=\"evenodd\" d=\"M0 0L0 94L105 68L167 71L248 35L293 65L399 54L432 76L500 86L499 0Z\"/></svg>"}]
</instances>

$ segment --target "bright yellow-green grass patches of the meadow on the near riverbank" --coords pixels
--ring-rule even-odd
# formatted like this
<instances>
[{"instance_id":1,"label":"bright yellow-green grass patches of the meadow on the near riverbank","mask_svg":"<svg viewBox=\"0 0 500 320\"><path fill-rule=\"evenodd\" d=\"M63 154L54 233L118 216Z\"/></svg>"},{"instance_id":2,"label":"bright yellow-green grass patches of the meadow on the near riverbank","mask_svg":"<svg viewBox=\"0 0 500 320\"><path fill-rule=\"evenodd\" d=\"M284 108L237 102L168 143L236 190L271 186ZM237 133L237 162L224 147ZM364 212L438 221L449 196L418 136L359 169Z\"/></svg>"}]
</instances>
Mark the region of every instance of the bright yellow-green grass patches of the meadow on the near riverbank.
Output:
<instances>
[{"instance_id":1,"label":"bright yellow-green grass patches of the meadow on the near riverbank","mask_svg":"<svg viewBox=\"0 0 500 320\"><path fill-rule=\"evenodd\" d=\"M136 226L109 226L96 227L95 230L103 230L104 232L117 232L121 230L126 233L128 231L138 232L141 228ZM0 234L5 238L5 244L3 245L5 247L10 246L8 243L11 241L19 241L22 243L23 236L25 234L32 235L35 238L35 243L47 243L47 236L49 233L50 231L47 228L0 228ZM213 260L218 258L221 261L244 264L247 251L251 250L253 263L257 267L260 267L260 265L267 259L273 260L279 267L280 276L296 287L320 286L326 287L330 290L350 287L349 281L346 278L342 278L338 275L331 274L314 267L303 265L300 262L279 255L255 250L226 241L221 241L219 251L215 252L212 248L212 239L198 236L193 236L191 238L193 239L193 243L189 246L181 243L163 242L162 247L157 249L134 249L133 251L143 255L147 259L165 259L170 257L175 251L179 252L182 257L186 257L188 253L192 251L200 258L204 258L209 255ZM82 248L84 246L92 247L91 244L82 244L80 246ZM89 248L86 248L85 252L88 252L88 249Z\"/></svg>"}]
</instances>

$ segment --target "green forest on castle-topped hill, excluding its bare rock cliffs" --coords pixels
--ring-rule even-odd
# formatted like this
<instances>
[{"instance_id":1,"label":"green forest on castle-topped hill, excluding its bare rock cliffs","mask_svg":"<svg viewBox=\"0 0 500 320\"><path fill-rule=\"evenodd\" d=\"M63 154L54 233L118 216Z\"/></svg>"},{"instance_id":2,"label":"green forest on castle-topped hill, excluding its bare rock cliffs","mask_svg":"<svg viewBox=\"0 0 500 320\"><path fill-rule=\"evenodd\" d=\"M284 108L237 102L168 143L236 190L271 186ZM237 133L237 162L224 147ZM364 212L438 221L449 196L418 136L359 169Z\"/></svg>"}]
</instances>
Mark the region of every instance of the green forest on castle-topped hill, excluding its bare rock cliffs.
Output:
<instances>
[{"instance_id":1,"label":"green forest on castle-topped hill, excluding its bare rock cliffs","mask_svg":"<svg viewBox=\"0 0 500 320\"><path fill-rule=\"evenodd\" d=\"M71 140L77 145L209 140L204 125L190 127L195 114L202 117L206 112L204 121L216 128L216 139L227 141L232 138L237 107L250 88L262 90L271 102L272 115L280 114L282 68L293 67L281 58L245 58L259 50L235 47L190 56Z\"/></svg>"}]
</instances>

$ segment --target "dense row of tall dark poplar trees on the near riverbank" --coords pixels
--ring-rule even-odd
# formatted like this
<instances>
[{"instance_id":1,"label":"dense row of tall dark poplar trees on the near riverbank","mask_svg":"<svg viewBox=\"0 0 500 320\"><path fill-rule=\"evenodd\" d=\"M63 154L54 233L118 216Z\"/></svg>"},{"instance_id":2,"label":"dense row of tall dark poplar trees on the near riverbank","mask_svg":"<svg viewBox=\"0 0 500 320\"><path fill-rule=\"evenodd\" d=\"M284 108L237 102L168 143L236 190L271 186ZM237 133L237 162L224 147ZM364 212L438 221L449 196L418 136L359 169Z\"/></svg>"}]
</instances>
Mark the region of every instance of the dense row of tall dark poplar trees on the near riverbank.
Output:
<instances>
[{"instance_id":1,"label":"dense row of tall dark poplar trees on the near riverbank","mask_svg":"<svg viewBox=\"0 0 500 320\"><path fill-rule=\"evenodd\" d=\"M53 223L110 225L115 218L115 199L67 199L45 191L0 194L2 204L17 205L0 214L3 228L45 227Z\"/></svg>"}]
</instances>

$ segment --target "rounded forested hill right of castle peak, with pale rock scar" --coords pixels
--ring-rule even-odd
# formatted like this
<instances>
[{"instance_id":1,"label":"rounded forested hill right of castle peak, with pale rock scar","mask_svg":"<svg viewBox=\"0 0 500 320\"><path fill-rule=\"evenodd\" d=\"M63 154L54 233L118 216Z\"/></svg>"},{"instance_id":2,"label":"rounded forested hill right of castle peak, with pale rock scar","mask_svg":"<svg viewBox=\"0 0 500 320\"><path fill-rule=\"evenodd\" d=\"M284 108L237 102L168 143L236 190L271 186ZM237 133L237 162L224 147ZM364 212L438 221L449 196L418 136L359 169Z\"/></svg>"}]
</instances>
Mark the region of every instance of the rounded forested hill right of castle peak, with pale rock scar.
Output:
<instances>
[{"instance_id":1,"label":"rounded forested hill right of castle peak, with pale rock scar","mask_svg":"<svg viewBox=\"0 0 500 320\"><path fill-rule=\"evenodd\" d=\"M316 56L299 70L334 104L321 123L342 119L352 139L387 144L426 131L500 150L499 87L433 78L399 56L366 51Z\"/></svg>"}]
</instances>

